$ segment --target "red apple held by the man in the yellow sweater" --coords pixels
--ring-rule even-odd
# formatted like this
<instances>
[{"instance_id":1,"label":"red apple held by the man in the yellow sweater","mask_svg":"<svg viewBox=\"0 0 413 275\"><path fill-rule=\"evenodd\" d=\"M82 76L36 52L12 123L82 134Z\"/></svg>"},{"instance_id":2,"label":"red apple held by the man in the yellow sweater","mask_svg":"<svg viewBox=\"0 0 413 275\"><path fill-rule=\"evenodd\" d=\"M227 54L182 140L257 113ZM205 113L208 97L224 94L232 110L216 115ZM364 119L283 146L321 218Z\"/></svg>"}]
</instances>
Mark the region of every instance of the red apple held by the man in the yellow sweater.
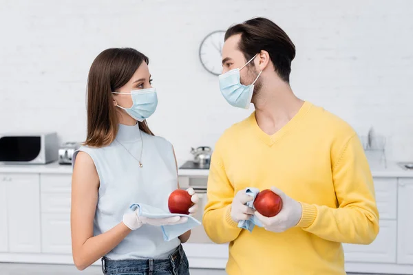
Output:
<instances>
[{"instance_id":1,"label":"red apple held by the man in the yellow sweater","mask_svg":"<svg viewBox=\"0 0 413 275\"><path fill-rule=\"evenodd\" d=\"M282 199L269 189L262 190L255 197L254 207L263 216L274 217L281 211Z\"/></svg>"}]
</instances>

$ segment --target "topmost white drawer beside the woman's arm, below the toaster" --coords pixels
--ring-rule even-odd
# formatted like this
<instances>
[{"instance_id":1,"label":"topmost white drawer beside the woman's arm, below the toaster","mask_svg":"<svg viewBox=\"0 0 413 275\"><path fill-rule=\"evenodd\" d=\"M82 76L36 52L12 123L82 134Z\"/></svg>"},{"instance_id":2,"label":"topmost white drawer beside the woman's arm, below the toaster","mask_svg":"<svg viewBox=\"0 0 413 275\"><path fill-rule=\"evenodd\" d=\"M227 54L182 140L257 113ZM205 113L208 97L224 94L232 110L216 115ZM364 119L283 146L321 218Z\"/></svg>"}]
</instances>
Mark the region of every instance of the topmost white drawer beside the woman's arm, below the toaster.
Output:
<instances>
[{"instance_id":1,"label":"topmost white drawer beside the woman's arm, below the toaster","mask_svg":"<svg viewBox=\"0 0 413 275\"><path fill-rule=\"evenodd\" d=\"M72 175L40 175L40 186L41 192L70 193L72 190Z\"/></svg>"}]
</instances>

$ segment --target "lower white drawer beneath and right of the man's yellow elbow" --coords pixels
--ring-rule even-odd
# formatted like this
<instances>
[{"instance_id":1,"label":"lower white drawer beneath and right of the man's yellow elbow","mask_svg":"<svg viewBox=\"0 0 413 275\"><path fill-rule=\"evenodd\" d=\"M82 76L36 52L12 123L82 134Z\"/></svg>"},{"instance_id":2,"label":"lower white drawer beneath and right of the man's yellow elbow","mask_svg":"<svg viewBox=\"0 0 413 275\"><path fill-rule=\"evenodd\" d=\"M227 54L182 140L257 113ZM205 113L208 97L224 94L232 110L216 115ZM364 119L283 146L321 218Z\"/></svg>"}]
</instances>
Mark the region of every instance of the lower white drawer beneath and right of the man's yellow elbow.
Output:
<instances>
[{"instance_id":1,"label":"lower white drawer beneath and right of the man's yellow elbow","mask_svg":"<svg viewBox=\"0 0 413 275\"><path fill-rule=\"evenodd\" d=\"M343 243L345 260L365 263L396 263L396 221L381 221L380 232L370 245Z\"/></svg>"}]
</instances>

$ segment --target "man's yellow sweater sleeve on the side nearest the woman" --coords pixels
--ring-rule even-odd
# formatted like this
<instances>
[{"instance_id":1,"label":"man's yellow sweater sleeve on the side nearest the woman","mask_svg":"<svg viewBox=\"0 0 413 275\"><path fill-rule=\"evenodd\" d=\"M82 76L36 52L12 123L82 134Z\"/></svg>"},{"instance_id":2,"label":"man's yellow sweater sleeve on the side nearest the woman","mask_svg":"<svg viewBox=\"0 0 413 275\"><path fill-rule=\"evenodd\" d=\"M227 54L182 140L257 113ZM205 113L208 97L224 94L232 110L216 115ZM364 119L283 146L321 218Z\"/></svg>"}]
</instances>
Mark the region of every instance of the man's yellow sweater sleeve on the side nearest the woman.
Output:
<instances>
[{"instance_id":1,"label":"man's yellow sweater sleeve on the side nearest the woman","mask_svg":"<svg viewBox=\"0 0 413 275\"><path fill-rule=\"evenodd\" d=\"M202 223L205 232L213 242L229 243L237 239L241 228L238 228L237 223L231 219L234 188L226 177L221 148L217 144L211 157L207 188L208 202Z\"/></svg>"}]
</instances>

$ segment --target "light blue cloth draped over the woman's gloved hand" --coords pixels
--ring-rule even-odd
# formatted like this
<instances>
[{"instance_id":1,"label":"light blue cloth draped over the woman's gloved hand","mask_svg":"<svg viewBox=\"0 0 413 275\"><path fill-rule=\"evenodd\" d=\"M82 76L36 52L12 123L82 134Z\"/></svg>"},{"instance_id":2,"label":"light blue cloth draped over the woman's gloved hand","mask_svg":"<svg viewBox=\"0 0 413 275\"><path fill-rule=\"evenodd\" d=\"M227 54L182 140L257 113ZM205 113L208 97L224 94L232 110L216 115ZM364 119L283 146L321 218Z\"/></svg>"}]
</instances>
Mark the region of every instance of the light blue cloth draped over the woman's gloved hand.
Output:
<instances>
[{"instance_id":1,"label":"light blue cloth draped over the woman's gloved hand","mask_svg":"<svg viewBox=\"0 0 413 275\"><path fill-rule=\"evenodd\" d=\"M157 219L157 218L162 219L162 218L180 216L180 217L188 218L188 221L186 223L160 226L160 228L162 228L163 237L165 241L171 241L175 238L178 238L178 236L184 234L184 232L187 232L188 230L191 230L192 228L195 228L201 224L200 221L198 221L194 217L191 217L187 214L171 214L168 211L165 211L160 208L153 207L153 206L148 206L147 204L144 204L144 203L134 203L130 206L131 210L136 210L136 208L139 209L138 213L141 217L147 217L147 218L152 218L152 219Z\"/></svg>"}]
</instances>

